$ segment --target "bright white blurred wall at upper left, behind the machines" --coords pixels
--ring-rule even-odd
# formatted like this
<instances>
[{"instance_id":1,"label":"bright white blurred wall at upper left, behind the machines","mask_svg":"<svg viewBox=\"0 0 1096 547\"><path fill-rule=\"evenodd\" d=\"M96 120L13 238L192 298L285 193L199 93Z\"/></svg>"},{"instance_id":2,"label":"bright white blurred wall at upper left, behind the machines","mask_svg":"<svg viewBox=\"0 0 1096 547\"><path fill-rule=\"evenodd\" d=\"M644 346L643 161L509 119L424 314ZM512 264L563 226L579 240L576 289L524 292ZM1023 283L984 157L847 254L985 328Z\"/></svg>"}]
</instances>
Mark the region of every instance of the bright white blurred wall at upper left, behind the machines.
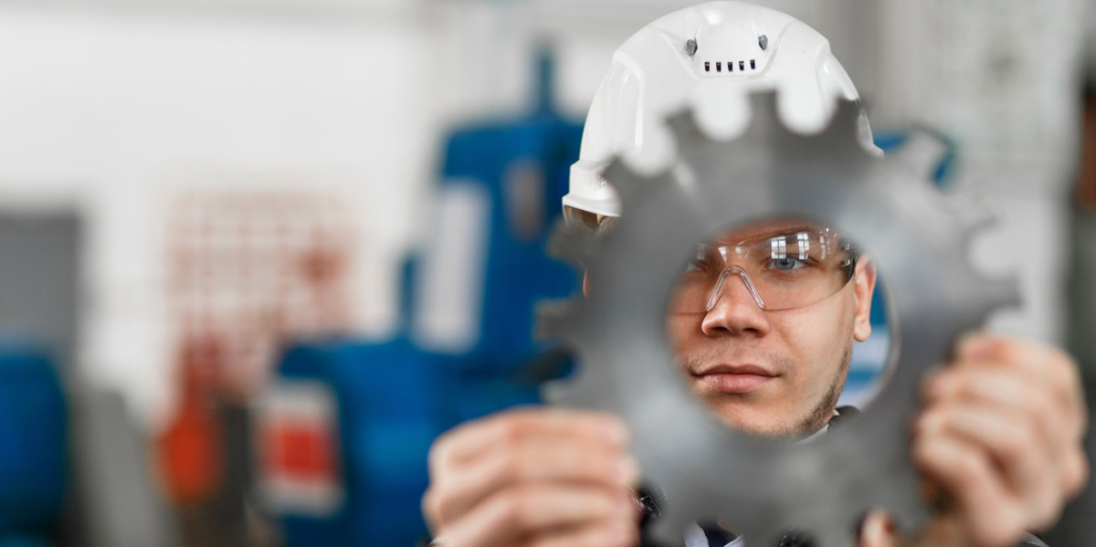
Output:
<instances>
[{"instance_id":1,"label":"bright white blurred wall at upper left, behind the machines","mask_svg":"<svg viewBox=\"0 0 1096 547\"><path fill-rule=\"evenodd\" d=\"M163 228L184 186L322 187L359 213L358 327L433 166L427 18L293 22L0 7L0 203L84 215L77 367L157 422L169 404Z\"/></svg>"}]
</instances>

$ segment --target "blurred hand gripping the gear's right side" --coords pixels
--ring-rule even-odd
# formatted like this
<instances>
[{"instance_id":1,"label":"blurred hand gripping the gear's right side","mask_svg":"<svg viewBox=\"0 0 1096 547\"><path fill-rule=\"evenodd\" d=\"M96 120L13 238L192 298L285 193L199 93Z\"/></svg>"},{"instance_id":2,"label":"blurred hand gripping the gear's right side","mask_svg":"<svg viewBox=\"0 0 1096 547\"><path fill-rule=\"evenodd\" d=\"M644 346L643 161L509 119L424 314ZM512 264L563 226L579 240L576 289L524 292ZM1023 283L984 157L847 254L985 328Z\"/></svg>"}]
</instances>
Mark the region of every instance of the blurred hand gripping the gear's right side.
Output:
<instances>
[{"instance_id":1,"label":"blurred hand gripping the gear's right side","mask_svg":"<svg viewBox=\"0 0 1096 547\"><path fill-rule=\"evenodd\" d=\"M1050 528L1088 479L1087 410L1077 367L1030 342L977 335L929 375L913 423L912 458L938 511L899 542L879 513L861 545L1011 547Z\"/></svg>"}]
</instances>

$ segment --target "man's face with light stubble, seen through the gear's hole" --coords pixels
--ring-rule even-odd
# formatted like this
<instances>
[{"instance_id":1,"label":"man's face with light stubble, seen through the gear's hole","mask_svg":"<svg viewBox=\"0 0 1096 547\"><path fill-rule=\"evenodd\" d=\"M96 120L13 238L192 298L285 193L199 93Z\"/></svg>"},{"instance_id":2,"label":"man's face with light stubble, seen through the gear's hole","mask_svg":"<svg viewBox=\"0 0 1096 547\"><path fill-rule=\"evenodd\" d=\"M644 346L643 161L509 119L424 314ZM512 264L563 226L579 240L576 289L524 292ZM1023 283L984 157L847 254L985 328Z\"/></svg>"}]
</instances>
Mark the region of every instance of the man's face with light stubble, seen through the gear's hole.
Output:
<instances>
[{"instance_id":1,"label":"man's face with light stubble, seen through the gear's hole","mask_svg":"<svg viewBox=\"0 0 1096 547\"><path fill-rule=\"evenodd\" d=\"M756 257L743 254L742 247L738 247L738 258L732 257L737 243L749 247L761 242L754 248L765 249L773 236L795 235L807 226L773 220L731 230L717 238L724 249L732 249L723 251L728 258L718 270L739 263L746 271L756 269L755 263L744 264L756 262ZM788 269L789 274L804 271L792 270L803 267L803 261L777 265ZM760 276L756 272L750 275ZM723 423L747 433L795 436L822 428L833 415L844 387L853 340L864 341L871 333L868 317L875 269L861 258L852 281L842 284L847 274L822 293L821 299L811 298L807 305L787 309L762 309L744 278L732 274L723 276L710 309L685 306L688 311L683 311L677 305L684 293L684 285L680 285L666 329L692 391ZM754 278L752 283L755 292L765 290L763 281ZM785 289L772 285L768 290L768 296L762 295L766 301Z\"/></svg>"}]
</instances>

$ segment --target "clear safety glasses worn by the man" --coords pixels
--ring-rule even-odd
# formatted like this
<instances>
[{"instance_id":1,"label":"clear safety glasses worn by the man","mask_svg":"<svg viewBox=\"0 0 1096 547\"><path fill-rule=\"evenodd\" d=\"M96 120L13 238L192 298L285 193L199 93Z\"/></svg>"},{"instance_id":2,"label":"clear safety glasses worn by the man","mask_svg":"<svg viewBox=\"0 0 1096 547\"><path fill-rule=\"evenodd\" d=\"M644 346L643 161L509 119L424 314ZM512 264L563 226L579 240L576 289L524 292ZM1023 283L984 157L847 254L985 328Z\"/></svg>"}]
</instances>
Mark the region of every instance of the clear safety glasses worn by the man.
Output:
<instances>
[{"instance_id":1,"label":"clear safety glasses worn by the man","mask_svg":"<svg viewBox=\"0 0 1096 547\"><path fill-rule=\"evenodd\" d=\"M701 314L738 297L769 310L807 306L841 290L854 267L852 248L827 228L735 230L697 247L671 310Z\"/></svg>"}]
</instances>

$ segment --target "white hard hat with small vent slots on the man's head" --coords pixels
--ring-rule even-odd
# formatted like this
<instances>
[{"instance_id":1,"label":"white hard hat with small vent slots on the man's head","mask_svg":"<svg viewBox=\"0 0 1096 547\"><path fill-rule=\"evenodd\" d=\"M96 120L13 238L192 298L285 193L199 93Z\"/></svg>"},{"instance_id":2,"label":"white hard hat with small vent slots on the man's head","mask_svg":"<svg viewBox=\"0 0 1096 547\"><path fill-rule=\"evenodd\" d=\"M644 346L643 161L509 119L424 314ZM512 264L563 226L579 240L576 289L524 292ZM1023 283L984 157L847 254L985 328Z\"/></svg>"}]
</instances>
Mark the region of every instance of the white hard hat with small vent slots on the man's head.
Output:
<instances>
[{"instance_id":1,"label":"white hard hat with small vent slots on the man's head","mask_svg":"<svg viewBox=\"0 0 1096 547\"><path fill-rule=\"evenodd\" d=\"M838 99L859 99L825 37L785 13L720 1L647 25L616 50L594 96L564 209L619 216L602 179L615 157L642 173L667 168L676 150L665 119L687 106L711 138L733 138L750 123L755 91L776 91L781 121L799 133L824 129ZM860 127L865 148L881 153L863 115Z\"/></svg>"}]
</instances>

